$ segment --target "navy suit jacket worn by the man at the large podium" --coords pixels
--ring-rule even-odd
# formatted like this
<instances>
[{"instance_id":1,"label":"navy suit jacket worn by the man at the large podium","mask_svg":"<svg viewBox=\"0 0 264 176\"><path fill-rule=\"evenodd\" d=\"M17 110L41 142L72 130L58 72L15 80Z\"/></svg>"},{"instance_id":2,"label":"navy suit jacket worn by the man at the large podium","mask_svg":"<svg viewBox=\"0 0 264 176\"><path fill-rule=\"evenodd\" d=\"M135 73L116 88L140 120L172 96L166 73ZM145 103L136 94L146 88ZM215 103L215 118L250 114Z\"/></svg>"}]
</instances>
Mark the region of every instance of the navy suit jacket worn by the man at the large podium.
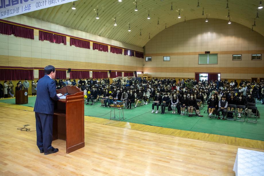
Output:
<instances>
[{"instance_id":1,"label":"navy suit jacket worn by the man at the large podium","mask_svg":"<svg viewBox=\"0 0 264 176\"><path fill-rule=\"evenodd\" d=\"M56 83L48 75L40 78L37 84L37 98L34 111L37 113L51 114L54 113L54 101L60 98L56 94Z\"/></svg>"}]
</instances>

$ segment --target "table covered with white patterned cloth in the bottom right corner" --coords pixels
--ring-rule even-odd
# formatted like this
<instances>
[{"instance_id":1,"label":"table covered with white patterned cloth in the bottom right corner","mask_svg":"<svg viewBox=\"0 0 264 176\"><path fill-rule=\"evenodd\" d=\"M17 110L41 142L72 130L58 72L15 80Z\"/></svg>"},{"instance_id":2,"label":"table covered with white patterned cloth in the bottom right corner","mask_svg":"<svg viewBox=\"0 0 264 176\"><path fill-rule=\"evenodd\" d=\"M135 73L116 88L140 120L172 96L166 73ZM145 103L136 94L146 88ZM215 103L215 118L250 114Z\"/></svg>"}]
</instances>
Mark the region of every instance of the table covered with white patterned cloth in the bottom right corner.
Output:
<instances>
[{"instance_id":1,"label":"table covered with white patterned cloth in the bottom right corner","mask_svg":"<svg viewBox=\"0 0 264 176\"><path fill-rule=\"evenodd\" d=\"M238 148L233 171L236 176L264 175L264 152Z\"/></svg>"}]
</instances>

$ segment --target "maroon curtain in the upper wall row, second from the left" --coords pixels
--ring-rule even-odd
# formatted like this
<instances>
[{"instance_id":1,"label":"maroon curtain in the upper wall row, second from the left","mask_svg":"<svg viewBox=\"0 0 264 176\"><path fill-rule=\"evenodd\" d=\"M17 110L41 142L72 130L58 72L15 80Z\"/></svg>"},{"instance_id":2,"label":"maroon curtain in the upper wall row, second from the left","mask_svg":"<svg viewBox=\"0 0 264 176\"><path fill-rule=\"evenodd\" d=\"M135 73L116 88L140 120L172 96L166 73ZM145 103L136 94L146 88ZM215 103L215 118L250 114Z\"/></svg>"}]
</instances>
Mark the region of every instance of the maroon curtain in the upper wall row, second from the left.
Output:
<instances>
[{"instance_id":1,"label":"maroon curtain in the upper wall row, second from the left","mask_svg":"<svg viewBox=\"0 0 264 176\"><path fill-rule=\"evenodd\" d=\"M66 45L66 36L62 36L62 35L58 35L58 34L53 34L50 32L45 32L45 31L39 31L39 36L38 36L38 40L44 41L44 40L48 40L51 43L63 43L64 45Z\"/></svg>"}]
</instances>

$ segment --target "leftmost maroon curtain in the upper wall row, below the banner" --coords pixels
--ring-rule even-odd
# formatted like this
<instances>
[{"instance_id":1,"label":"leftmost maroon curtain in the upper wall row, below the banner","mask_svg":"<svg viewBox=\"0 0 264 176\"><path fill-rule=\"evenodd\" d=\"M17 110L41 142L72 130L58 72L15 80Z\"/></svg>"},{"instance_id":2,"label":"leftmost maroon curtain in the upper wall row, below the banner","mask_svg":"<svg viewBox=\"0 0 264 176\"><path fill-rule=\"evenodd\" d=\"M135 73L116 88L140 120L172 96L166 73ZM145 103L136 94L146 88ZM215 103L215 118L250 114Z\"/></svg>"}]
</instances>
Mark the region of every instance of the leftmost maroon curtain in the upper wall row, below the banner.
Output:
<instances>
[{"instance_id":1,"label":"leftmost maroon curtain in the upper wall row, below the banner","mask_svg":"<svg viewBox=\"0 0 264 176\"><path fill-rule=\"evenodd\" d=\"M34 39L34 29L0 22L0 33Z\"/></svg>"}]
</instances>

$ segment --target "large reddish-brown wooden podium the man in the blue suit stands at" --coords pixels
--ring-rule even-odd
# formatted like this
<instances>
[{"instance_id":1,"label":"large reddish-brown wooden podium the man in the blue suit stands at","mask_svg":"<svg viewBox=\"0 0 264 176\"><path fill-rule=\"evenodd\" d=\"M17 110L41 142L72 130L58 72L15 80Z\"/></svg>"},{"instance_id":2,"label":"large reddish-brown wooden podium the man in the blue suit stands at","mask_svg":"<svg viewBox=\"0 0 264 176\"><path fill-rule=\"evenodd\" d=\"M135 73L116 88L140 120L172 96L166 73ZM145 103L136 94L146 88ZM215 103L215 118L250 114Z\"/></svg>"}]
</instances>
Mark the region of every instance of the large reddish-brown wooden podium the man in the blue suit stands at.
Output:
<instances>
[{"instance_id":1,"label":"large reddish-brown wooden podium the man in the blue suit stands at","mask_svg":"<svg viewBox=\"0 0 264 176\"><path fill-rule=\"evenodd\" d=\"M70 95L55 102L53 140L66 140L66 152L70 153L84 147L84 92L75 86L66 87L56 90L57 94Z\"/></svg>"}]
</instances>

